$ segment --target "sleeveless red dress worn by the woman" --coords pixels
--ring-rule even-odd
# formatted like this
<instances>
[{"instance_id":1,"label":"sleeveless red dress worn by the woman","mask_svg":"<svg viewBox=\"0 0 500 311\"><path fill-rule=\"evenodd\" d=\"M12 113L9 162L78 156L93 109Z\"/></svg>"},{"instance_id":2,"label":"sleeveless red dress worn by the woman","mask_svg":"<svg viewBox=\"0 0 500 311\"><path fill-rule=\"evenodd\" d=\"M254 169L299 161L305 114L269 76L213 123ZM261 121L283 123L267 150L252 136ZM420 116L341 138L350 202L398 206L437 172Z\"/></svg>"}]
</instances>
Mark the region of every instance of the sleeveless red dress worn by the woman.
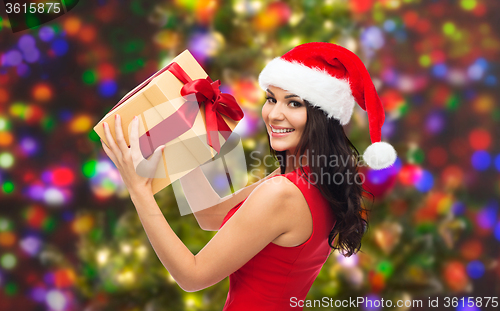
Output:
<instances>
[{"instance_id":1,"label":"sleeveless red dress worn by the woman","mask_svg":"<svg viewBox=\"0 0 500 311\"><path fill-rule=\"evenodd\" d=\"M309 168L304 167L304 171L309 173ZM300 168L278 176L288 178L304 195L312 215L312 235L294 247L269 243L229 275L229 293L223 311L302 310L297 302L306 298L330 255L328 235L335 225L335 216L328 201L304 179ZM227 213L221 227L243 202Z\"/></svg>"}]
</instances>

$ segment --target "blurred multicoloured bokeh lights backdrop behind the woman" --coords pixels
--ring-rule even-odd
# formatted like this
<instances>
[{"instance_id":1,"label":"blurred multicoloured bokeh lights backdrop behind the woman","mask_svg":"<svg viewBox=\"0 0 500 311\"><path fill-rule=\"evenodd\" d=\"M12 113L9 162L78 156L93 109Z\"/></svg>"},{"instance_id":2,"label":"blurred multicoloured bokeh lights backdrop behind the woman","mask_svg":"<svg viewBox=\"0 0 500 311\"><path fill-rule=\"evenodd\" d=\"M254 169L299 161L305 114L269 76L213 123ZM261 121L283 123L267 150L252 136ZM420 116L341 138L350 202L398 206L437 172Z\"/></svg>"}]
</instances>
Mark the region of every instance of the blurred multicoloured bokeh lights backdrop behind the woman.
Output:
<instances>
[{"instance_id":1,"label":"blurred multicoloured bokeh lights backdrop behind the woman","mask_svg":"<svg viewBox=\"0 0 500 311\"><path fill-rule=\"evenodd\" d=\"M128 193L92 128L122 87L132 90L188 48L244 109L235 132L245 152L267 154L258 74L308 41L338 43L360 56L384 105L382 140L399 154L392 168L362 168L363 186L382 205L370 214L373 235L357 255L332 254L311 298L361 290L359 296L377 300L410 299L421 289L412 284L428 281L447 296L492 296L485 291L495 288L484 283L500 278L500 37L491 14L497 2L89 1L63 19L2 37L0 200L12 205L0 212L0 296L12 301L7 308L149 308L149 290L161 282L172 289L161 299L173 297L181 307L222 305L224 295L185 295L160 262L150 261L154 250L137 217L123 209ZM2 18L0 32L9 31ZM346 134L366 146L366 113L353 121ZM270 172L272 163L259 169ZM227 183L219 177L217 185ZM157 198L175 212L173 198ZM172 225L182 229L188 220ZM200 235L181 231L186 243L202 247ZM76 240L84 252L74 251ZM146 263L168 278L143 277ZM404 279L400 271L408 272ZM124 290L137 295L124 300ZM168 308L160 300L158 307Z\"/></svg>"}]
</instances>

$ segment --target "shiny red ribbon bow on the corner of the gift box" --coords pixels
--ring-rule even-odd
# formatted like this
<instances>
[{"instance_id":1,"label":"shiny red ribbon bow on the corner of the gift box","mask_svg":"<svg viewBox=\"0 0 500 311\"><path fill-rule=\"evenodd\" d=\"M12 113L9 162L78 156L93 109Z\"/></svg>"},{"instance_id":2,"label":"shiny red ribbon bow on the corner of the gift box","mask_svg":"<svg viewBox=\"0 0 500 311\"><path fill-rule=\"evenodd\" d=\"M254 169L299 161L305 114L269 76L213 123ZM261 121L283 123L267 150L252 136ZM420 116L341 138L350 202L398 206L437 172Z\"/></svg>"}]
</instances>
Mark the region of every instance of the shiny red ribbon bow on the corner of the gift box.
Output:
<instances>
[{"instance_id":1,"label":"shiny red ribbon bow on the corner of the gift box","mask_svg":"<svg viewBox=\"0 0 500 311\"><path fill-rule=\"evenodd\" d=\"M184 83L181 89L182 96L195 94L198 104L205 105L207 143L219 153L219 132L226 140L231 135L231 128L226 124L222 115L239 121L243 118L240 106L232 95L220 92L219 80L213 82L210 77L192 80L177 63L172 63L168 70Z\"/></svg>"}]
</instances>

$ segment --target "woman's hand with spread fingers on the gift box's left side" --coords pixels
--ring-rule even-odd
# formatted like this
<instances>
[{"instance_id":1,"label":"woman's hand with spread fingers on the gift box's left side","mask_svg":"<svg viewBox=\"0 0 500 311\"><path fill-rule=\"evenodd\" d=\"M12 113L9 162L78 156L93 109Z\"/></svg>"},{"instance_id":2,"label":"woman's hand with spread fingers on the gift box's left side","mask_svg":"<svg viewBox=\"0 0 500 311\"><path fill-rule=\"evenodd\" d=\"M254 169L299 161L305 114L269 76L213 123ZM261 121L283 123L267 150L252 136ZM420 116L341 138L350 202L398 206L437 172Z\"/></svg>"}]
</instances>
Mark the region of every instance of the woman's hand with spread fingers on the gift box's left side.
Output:
<instances>
[{"instance_id":1,"label":"woman's hand with spread fingers on the gift box's left side","mask_svg":"<svg viewBox=\"0 0 500 311\"><path fill-rule=\"evenodd\" d=\"M139 118L137 116L131 123L130 148L123 137L120 115L117 114L115 119L116 142L111 135L109 125L103 122L103 126L109 147L101 139L102 147L120 172L129 193L144 194L144 191L152 191L151 183L165 146L156 148L149 160L144 159L139 147Z\"/></svg>"}]
</instances>

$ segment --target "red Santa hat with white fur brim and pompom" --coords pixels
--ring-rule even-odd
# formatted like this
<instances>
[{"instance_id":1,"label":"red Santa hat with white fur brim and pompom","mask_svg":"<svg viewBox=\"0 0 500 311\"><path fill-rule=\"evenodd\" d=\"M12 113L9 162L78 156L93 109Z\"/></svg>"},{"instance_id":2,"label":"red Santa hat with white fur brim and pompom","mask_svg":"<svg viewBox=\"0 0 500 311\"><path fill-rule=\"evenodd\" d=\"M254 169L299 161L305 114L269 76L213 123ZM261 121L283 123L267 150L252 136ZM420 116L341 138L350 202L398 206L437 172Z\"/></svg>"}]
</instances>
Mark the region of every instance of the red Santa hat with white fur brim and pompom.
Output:
<instances>
[{"instance_id":1,"label":"red Santa hat with white fur brim and pompom","mask_svg":"<svg viewBox=\"0 0 500 311\"><path fill-rule=\"evenodd\" d=\"M259 84L263 90L273 85L292 92L342 125L349 122L357 103L368 113L372 142L363 153L365 162L382 169L396 161L396 150L380 141L384 108L365 65L353 52L326 42L299 45L269 62Z\"/></svg>"}]
</instances>

